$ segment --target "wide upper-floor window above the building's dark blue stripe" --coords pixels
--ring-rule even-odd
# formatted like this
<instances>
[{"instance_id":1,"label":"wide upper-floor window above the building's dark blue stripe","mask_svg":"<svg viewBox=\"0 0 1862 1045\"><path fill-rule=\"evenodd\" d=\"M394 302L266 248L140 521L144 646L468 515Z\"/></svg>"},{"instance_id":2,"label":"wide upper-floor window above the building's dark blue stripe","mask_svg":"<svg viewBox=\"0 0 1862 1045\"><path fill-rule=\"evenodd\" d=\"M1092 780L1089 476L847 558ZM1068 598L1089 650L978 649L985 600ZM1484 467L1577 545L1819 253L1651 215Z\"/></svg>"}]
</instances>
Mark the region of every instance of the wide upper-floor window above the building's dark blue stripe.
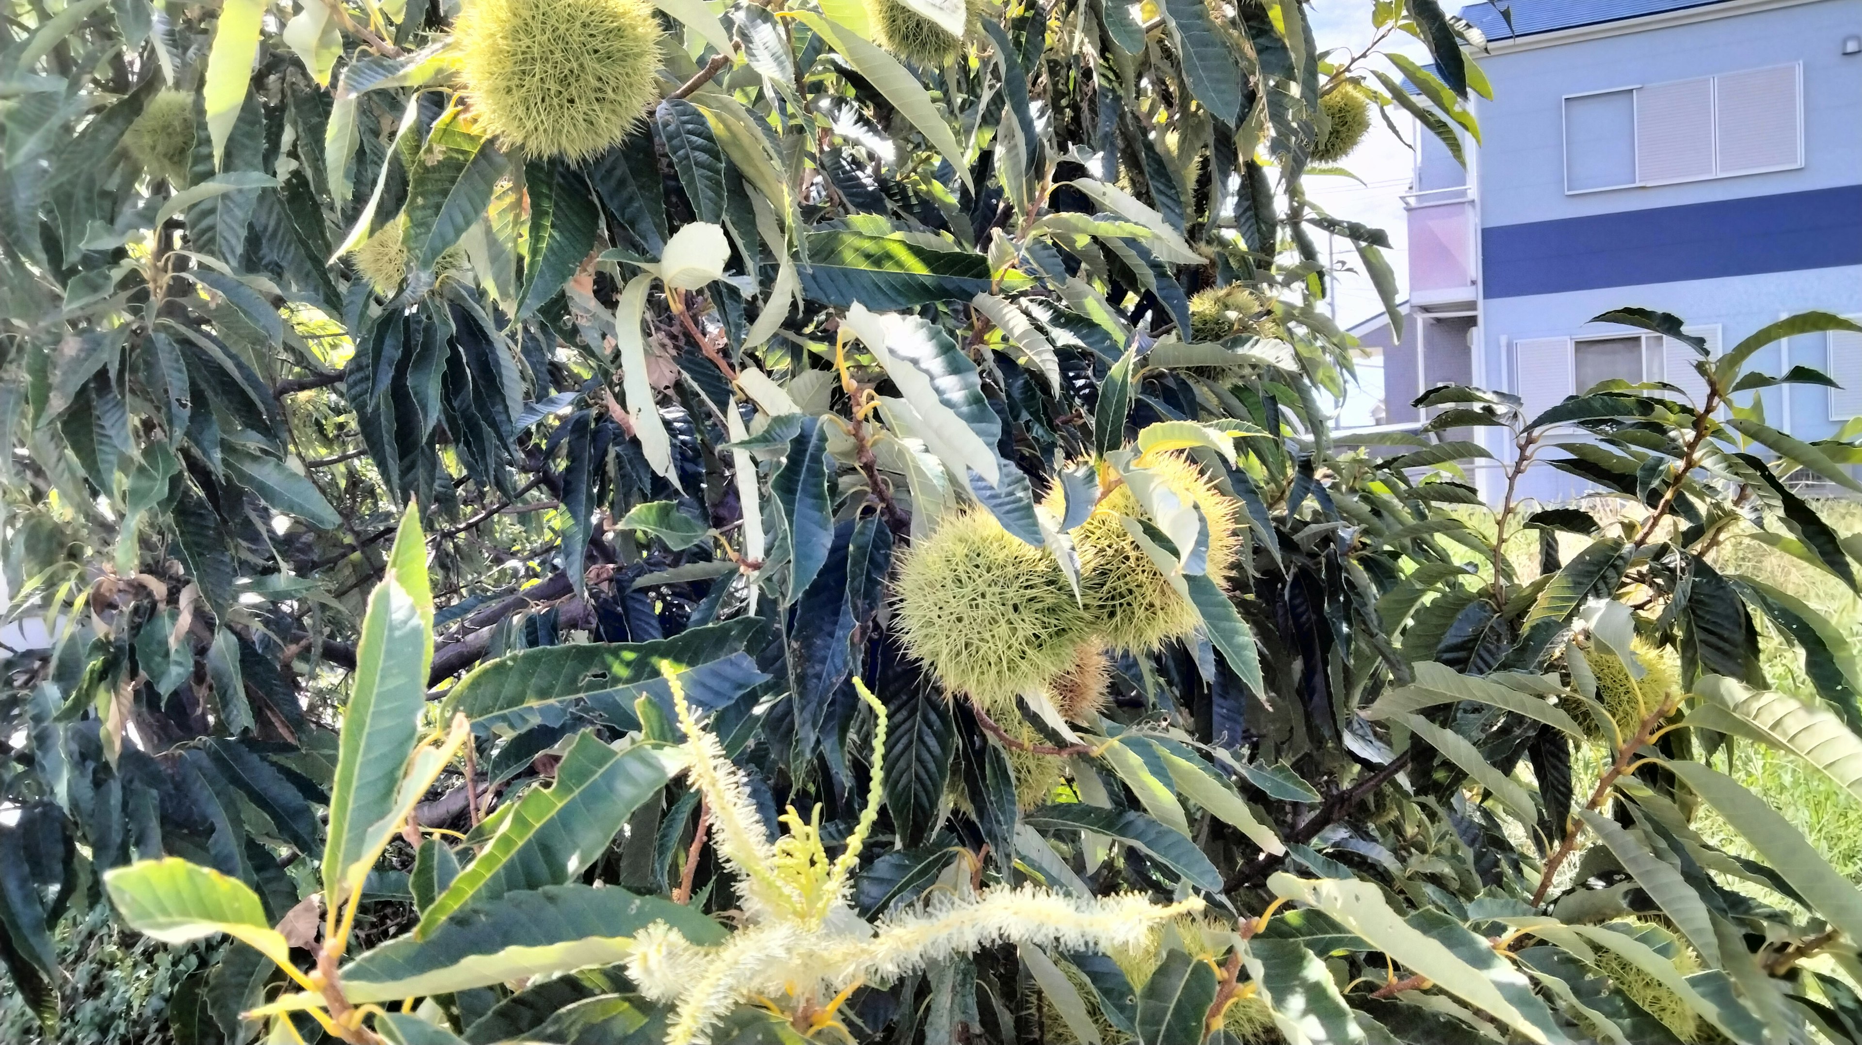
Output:
<instances>
[{"instance_id":1,"label":"wide upper-floor window above the building's dark blue stripe","mask_svg":"<svg viewBox=\"0 0 1862 1045\"><path fill-rule=\"evenodd\" d=\"M1598 192L1804 164L1799 65L1564 99L1564 190Z\"/></svg>"}]
</instances>

